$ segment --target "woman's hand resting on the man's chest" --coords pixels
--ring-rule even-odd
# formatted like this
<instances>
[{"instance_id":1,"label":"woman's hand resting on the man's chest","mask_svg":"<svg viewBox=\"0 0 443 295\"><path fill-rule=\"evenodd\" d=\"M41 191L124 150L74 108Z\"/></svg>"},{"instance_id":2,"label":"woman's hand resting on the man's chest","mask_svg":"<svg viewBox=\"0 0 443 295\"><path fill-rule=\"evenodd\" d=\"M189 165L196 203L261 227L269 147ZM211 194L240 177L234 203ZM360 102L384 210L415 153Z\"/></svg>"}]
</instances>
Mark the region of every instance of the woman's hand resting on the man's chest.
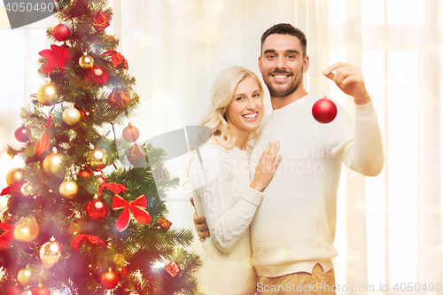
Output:
<instances>
[{"instance_id":1,"label":"woman's hand resting on the man's chest","mask_svg":"<svg viewBox=\"0 0 443 295\"><path fill-rule=\"evenodd\" d=\"M282 159L281 154L276 156L279 149L279 141L270 142L266 147L266 150L261 154L259 163L257 164L257 167L255 167L253 182L251 182L250 185L254 190L264 190L268 186L272 177L274 177L274 174L276 174L276 167Z\"/></svg>"}]
</instances>

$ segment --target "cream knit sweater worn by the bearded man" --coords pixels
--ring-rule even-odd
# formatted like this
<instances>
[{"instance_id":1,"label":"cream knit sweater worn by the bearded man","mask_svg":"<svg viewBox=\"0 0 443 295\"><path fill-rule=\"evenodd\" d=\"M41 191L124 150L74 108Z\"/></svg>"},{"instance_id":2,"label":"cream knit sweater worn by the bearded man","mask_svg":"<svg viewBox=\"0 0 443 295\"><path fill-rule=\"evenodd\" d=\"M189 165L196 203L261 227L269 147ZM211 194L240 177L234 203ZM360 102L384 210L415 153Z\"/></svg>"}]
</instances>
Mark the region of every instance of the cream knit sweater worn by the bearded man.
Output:
<instances>
[{"instance_id":1,"label":"cream knit sweater worn by the bearded man","mask_svg":"<svg viewBox=\"0 0 443 295\"><path fill-rule=\"evenodd\" d=\"M250 175L270 141L280 141L283 157L251 224L253 265L259 276L326 272L338 255L337 192L342 162L361 175L377 175L384 165L383 142L372 102L355 105L355 126L338 105L335 120L317 122L307 95L274 110L260 126L250 159Z\"/></svg>"}]
</instances>

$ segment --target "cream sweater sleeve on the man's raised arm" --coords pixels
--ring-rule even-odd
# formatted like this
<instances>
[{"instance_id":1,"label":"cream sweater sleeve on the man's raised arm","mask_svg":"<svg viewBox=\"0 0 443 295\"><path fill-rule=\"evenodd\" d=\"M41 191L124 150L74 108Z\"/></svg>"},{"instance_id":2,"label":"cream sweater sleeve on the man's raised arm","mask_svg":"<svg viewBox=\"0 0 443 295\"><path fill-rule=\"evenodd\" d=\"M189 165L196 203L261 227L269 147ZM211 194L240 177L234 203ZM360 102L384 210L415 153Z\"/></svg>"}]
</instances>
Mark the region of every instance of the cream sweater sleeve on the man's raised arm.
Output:
<instances>
[{"instance_id":1,"label":"cream sweater sleeve on the man's raised arm","mask_svg":"<svg viewBox=\"0 0 443 295\"><path fill-rule=\"evenodd\" d=\"M346 110L337 102L335 104L338 107L336 119L322 127L323 135L328 138L328 151L332 151L330 155L361 175L377 176L385 164L385 156L372 102L355 104L355 125Z\"/></svg>"}]
</instances>

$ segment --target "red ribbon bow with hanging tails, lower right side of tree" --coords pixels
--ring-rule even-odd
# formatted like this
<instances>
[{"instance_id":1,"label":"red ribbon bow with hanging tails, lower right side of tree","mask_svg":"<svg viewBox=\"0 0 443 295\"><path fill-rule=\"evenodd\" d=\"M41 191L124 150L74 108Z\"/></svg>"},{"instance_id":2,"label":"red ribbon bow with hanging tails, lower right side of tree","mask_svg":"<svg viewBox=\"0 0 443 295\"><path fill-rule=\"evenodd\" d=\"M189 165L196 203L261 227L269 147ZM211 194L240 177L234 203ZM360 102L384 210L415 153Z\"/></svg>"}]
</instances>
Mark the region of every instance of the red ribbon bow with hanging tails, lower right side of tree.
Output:
<instances>
[{"instance_id":1,"label":"red ribbon bow with hanging tails, lower right side of tree","mask_svg":"<svg viewBox=\"0 0 443 295\"><path fill-rule=\"evenodd\" d=\"M123 209L119 219L115 221L115 227L119 229L119 231L127 229L129 221L131 221L131 213L138 223L147 224L151 222L151 215L144 210L146 206L148 206L148 200L144 195L136 198L132 202L128 202L119 195L115 195L113 197L113 210Z\"/></svg>"}]
</instances>

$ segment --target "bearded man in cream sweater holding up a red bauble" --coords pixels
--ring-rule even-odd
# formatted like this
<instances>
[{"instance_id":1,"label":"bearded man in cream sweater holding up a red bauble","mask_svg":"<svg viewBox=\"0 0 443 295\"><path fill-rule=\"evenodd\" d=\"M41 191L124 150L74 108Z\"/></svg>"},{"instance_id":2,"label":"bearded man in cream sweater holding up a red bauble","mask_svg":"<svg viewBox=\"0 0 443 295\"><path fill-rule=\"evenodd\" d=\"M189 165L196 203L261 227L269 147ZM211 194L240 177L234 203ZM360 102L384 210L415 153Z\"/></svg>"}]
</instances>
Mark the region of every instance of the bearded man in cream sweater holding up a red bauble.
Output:
<instances>
[{"instance_id":1,"label":"bearded man in cream sweater holding up a red bauble","mask_svg":"<svg viewBox=\"0 0 443 295\"><path fill-rule=\"evenodd\" d=\"M336 63L323 72L354 97L355 126L337 103L330 123L313 118L322 97L303 87L306 47L306 36L290 24L270 27L261 37L259 68L273 111L253 145L251 175L270 141L280 141L283 159L251 224L257 294L336 293L331 259L338 255L332 243L341 163L376 176L385 161L377 113L356 66ZM194 222L203 241L209 236L204 218L194 215Z\"/></svg>"}]
</instances>

